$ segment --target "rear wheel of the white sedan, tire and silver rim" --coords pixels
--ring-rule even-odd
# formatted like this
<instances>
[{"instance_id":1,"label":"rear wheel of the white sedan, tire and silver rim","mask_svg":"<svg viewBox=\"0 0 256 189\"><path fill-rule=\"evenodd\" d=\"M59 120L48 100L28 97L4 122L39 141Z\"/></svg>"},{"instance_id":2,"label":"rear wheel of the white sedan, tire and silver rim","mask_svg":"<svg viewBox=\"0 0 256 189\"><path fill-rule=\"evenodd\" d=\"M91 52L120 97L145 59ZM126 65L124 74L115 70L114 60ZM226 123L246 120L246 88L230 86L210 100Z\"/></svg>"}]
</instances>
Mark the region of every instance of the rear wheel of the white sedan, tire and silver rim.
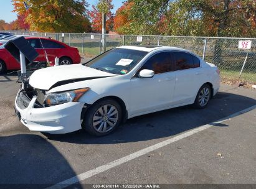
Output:
<instances>
[{"instance_id":1,"label":"rear wheel of the white sedan, tire and silver rim","mask_svg":"<svg viewBox=\"0 0 256 189\"><path fill-rule=\"evenodd\" d=\"M209 104L211 99L212 88L208 84L204 84L199 89L194 101L194 108L203 109Z\"/></svg>"}]
</instances>

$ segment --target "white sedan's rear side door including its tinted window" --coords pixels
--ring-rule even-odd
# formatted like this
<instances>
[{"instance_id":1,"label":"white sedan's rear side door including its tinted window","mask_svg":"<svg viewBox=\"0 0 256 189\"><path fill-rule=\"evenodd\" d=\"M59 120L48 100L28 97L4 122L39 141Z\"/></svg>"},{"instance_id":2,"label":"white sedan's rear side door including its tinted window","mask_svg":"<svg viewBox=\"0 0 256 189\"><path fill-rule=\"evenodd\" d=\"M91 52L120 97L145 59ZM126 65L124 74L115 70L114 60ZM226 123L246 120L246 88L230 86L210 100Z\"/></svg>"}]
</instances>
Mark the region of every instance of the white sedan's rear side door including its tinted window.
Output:
<instances>
[{"instance_id":1,"label":"white sedan's rear side door including its tinted window","mask_svg":"<svg viewBox=\"0 0 256 189\"><path fill-rule=\"evenodd\" d=\"M174 91L174 105L192 103L201 87L203 72L199 58L187 52L173 52L176 88Z\"/></svg>"}]
</instances>

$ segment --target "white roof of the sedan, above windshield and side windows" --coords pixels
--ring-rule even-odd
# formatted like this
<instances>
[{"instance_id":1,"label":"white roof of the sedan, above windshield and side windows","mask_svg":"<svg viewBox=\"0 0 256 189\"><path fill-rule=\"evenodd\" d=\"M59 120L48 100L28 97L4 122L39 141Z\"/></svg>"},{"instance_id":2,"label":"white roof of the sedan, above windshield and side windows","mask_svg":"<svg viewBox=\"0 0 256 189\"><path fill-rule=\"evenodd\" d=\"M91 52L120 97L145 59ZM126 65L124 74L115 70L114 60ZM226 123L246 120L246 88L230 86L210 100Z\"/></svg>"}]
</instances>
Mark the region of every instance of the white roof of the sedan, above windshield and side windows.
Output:
<instances>
[{"instance_id":1,"label":"white roof of the sedan, above windshield and side windows","mask_svg":"<svg viewBox=\"0 0 256 189\"><path fill-rule=\"evenodd\" d=\"M189 50L178 48L178 47L169 47L169 46L158 46L158 45L126 45L116 48L126 48L126 49L132 49L132 50L141 50L145 52L151 52L153 50L157 49L166 49L166 50L183 50L189 52Z\"/></svg>"}]
</instances>

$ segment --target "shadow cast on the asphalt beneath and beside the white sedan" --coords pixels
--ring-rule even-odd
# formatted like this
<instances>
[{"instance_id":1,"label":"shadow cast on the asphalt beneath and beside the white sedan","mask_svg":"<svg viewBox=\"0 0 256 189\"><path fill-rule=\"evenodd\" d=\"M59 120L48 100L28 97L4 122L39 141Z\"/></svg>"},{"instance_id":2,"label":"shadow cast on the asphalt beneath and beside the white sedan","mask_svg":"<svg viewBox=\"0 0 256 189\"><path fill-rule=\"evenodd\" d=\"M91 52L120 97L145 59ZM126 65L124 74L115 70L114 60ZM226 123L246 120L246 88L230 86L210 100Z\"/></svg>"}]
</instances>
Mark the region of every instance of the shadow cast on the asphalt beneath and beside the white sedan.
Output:
<instances>
[{"instance_id":1,"label":"shadow cast on the asphalt beneath and beside the white sedan","mask_svg":"<svg viewBox=\"0 0 256 189\"><path fill-rule=\"evenodd\" d=\"M191 106L183 106L138 116L128 119L123 126L105 137L90 136L82 130L62 135L47 134L47 137L54 141L74 144L116 144L148 141L174 136L205 124L211 124L255 104L255 99L219 92L210 101L206 109L193 109ZM215 126L227 127L222 123Z\"/></svg>"}]
</instances>

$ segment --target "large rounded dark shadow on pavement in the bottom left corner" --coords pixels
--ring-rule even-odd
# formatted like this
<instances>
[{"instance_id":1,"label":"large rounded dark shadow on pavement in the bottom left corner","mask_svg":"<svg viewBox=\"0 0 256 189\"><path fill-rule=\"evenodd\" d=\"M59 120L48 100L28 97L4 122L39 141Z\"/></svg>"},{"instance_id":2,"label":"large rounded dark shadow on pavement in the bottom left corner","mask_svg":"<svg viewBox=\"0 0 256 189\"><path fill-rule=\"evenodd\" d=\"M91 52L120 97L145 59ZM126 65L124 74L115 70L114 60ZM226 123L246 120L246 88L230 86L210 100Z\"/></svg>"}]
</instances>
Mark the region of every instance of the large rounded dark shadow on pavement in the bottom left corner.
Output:
<instances>
[{"instance_id":1,"label":"large rounded dark shadow on pavement in the bottom left corner","mask_svg":"<svg viewBox=\"0 0 256 189\"><path fill-rule=\"evenodd\" d=\"M76 174L43 137L17 134L0 137L0 175L0 188L45 188Z\"/></svg>"}]
</instances>

